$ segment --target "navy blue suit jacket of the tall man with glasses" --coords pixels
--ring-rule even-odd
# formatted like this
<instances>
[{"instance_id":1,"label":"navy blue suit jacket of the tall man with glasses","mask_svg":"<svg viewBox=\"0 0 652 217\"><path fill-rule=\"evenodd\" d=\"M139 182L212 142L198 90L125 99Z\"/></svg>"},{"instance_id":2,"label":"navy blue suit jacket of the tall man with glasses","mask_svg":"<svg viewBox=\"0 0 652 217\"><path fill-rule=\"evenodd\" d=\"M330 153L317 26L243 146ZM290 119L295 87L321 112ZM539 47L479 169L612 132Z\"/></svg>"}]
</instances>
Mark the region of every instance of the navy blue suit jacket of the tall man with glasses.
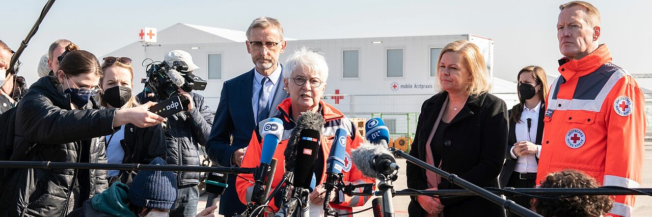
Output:
<instances>
[{"instance_id":1,"label":"navy blue suit jacket of the tall man with glasses","mask_svg":"<svg viewBox=\"0 0 652 217\"><path fill-rule=\"evenodd\" d=\"M283 70L283 65L281 65L281 69ZM215 123L206 144L211 161L220 166L231 166L231 155L235 150L248 146L254 127L256 127L254 107L251 102L254 96L254 73L256 71L252 69L225 81L222 86L220 103L215 112ZM283 72L281 71L280 81L283 81L282 79ZM279 83L278 85L269 114L265 118L279 114L276 107L288 97L288 93L283 90L283 84ZM233 136L233 143L231 143L231 136ZM229 186L220 199L220 214L225 216L241 214L245 207L240 203L237 192L235 192L235 175L228 176L227 184Z\"/></svg>"}]
</instances>

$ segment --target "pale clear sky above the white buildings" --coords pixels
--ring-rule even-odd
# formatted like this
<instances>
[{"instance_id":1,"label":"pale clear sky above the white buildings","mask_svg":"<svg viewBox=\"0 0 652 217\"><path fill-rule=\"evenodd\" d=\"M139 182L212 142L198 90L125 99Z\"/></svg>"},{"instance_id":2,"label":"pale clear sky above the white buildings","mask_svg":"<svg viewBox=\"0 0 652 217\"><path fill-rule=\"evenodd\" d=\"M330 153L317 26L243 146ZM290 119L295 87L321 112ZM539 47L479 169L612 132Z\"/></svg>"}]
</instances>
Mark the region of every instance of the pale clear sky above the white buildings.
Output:
<instances>
[{"instance_id":1,"label":"pale clear sky above the white buildings","mask_svg":"<svg viewBox=\"0 0 652 217\"><path fill-rule=\"evenodd\" d=\"M281 21L296 39L477 34L495 40L494 73L516 81L527 65L557 73L558 6L566 1L57 1L20 60L28 83L40 55L67 38L98 57L138 40L142 27L175 23L245 31L259 16ZM600 43L630 73L652 73L650 1L589 1L602 14ZM0 40L12 49L31 29L44 0L3 1ZM652 79L638 79L652 88Z\"/></svg>"}]
</instances>

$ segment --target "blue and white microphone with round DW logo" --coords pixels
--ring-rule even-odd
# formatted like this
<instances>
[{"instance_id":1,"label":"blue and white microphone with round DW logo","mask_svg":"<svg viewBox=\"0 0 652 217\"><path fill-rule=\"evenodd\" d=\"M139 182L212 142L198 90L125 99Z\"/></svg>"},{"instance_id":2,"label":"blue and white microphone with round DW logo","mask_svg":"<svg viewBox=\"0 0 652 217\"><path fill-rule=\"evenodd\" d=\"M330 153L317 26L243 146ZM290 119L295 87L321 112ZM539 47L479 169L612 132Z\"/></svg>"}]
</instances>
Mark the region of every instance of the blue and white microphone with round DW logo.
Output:
<instances>
[{"instance_id":1,"label":"blue and white microphone with round DW logo","mask_svg":"<svg viewBox=\"0 0 652 217\"><path fill-rule=\"evenodd\" d=\"M271 183L268 174L271 172L273 175L276 171L276 162L274 162L274 166L271 166L270 163L276 151L276 145L278 145L278 141L283 134L283 122L278 118L271 118L263 125L261 130L261 136L264 138L263 147L260 155L260 166L256 170L256 174L254 174L256 184L254 185L251 198L251 201L256 204L263 203L267 199L265 192L269 193L269 185L265 184Z\"/></svg>"}]
</instances>

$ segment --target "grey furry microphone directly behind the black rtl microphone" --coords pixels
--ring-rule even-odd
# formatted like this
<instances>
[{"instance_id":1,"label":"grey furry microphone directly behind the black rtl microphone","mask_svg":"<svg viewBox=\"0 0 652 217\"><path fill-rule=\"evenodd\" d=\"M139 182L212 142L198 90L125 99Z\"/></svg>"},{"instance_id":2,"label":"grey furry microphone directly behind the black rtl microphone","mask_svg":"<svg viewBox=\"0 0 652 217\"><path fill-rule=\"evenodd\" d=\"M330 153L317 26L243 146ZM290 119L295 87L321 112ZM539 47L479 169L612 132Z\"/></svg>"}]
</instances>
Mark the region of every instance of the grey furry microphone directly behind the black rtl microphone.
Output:
<instances>
[{"instance_id":1,"label":"grey furry microphone directly behind the black rtl microphone","mask_svg":"<svg viewBox=\"0 0 652 217\"><path fill-rule=\"evenodd\" d=\"M294 164L297 156L297 143L299 142L301 131L304 129L312 129L314 131L318 131L319 134L321 134L321 129L325 123L326 121L319 113L301 112L301 116L299 116L299 120L297 120L297 125L292 129L292 132L289 136L288 146L283 152L283 155L285 156L286 171L291 172L294 170Z\"/></svg>"}]
</instances>

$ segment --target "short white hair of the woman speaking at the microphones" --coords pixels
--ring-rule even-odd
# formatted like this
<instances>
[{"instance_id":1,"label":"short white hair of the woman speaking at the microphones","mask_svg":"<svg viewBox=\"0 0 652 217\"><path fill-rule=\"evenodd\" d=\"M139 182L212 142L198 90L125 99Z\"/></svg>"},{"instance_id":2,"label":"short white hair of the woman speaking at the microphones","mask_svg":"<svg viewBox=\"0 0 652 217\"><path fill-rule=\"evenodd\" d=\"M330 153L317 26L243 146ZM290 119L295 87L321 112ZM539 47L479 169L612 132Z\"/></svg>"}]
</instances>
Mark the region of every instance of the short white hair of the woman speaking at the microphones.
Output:
<instances>
[{"instance_id":1,"label":"short white hair of the woman speaking at the microphones","mask_svg":"<svg viewBox=\"0 0 652 217\"><path fill-rule=\"evenodd\" d=\"M301 49L294 51L294 53L288 57L284 67L286 67L283 70L283 77L285 78L291 77L294 70L301 69L318 73L320 76L319 79L321 79L321 82L323 83L328 79L328 64L326 64L326 58L320 53L312 51L306 47L301 47Z\"/></svg>"}]
</instances>

